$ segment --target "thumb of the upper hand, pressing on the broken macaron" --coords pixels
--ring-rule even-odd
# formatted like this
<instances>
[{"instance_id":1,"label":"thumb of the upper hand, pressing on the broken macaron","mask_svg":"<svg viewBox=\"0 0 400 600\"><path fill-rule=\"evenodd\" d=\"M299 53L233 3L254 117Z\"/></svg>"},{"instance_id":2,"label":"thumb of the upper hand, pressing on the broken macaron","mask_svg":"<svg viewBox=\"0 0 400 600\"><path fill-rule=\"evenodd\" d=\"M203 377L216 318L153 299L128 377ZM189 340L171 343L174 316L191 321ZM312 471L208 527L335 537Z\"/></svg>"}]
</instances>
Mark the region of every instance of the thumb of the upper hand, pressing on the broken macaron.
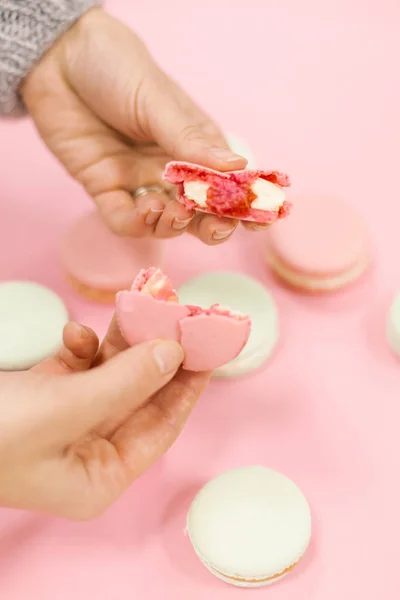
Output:
<instances>
[{"instance_id":1,"label":"thumb of the upper hand, pressing on the broken macaron","mask_svg":"<svg viewBox=\"0 0 400 600\"><path fill-rule=\"evenodd\" d=\"M145 92L151 136L166 154L220 171L246 166L217 125L167 75L159 72Z\"/></svg>"}]
</instances>

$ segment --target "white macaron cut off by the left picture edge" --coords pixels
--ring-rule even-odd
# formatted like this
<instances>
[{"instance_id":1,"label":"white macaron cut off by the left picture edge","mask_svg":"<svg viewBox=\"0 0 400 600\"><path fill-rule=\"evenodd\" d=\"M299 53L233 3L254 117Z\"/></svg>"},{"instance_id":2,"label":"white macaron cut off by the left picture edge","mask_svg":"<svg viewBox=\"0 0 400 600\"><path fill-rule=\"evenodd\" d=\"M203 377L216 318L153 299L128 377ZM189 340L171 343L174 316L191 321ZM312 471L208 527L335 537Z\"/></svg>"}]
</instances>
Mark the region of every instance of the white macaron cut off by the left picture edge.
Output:
<instances>
[{"instance_id":1,"label":"white macaron cut off by the left picture edge","mask_svg":"<svg viewBox=\"0 0 400 600\"><path fill-rule=\"evenodd\" d=\"M0 371L29 369L62 344L64 302L31 281L0 284Z\"/></svg>"}]
</instances>

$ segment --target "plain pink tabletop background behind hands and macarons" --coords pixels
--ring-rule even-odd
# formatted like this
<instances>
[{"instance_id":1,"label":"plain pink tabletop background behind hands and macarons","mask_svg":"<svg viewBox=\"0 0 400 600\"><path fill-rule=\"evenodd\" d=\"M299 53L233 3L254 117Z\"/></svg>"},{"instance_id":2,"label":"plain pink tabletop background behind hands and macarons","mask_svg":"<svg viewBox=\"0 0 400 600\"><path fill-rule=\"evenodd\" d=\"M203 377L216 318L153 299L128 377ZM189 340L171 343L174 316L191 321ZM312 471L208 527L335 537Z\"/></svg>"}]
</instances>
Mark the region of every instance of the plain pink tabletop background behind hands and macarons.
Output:
<instances>
[{"instance_id":1,"label":"plain pink tabletop background behind hands and macarons","mask_svg":"<svg viewBox=\"0 0 400 600\"><path fill-rule=\"evenodd\" d=\"M386 346L384 322L400 287L398 0L109 6L226 130L247 139L260 165L291 174L293 192L329 192L359 208L376 267L343 295L304 298L272 281L258 251L262 236L237 235L214 249L188 238L171 243L168 271L178 284L211 261L265 282L280 309L281 348L254 376L213 383L166 458L97 521L1 511L0 595L394 598L400 364ZM60 235L89 201L29 122L1 124L0 147L0 277L49 285L75 318L103 334L111 309L71 293L57 255ZM311 548L293 575L257 591L209 575L183 535L198 487L249 463L293 478L314 519Z\"/></svg>"}]
</instances>

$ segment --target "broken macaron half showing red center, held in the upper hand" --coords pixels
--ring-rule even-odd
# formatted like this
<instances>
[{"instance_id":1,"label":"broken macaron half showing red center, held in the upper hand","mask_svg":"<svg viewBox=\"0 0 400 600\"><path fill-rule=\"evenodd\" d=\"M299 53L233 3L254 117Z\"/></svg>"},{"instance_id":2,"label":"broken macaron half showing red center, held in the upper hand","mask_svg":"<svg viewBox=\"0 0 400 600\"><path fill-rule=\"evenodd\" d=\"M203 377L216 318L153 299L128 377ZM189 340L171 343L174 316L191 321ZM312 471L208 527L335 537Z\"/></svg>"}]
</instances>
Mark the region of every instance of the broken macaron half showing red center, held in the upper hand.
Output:
<instances>
[{"instance_id":1,"label":"broken macaron half showing red center, held in the upper hand","mask_svg":"<svg viewBox=\"0 0 400 600\"><path fill-rule=\"evenodd\" d=\"M279 171L219 172L186 162L170 162L163 178L177 186L177 200L189 210L269 225L291 208L284 188L289 177Z\"/></svg>"}]
</instances>

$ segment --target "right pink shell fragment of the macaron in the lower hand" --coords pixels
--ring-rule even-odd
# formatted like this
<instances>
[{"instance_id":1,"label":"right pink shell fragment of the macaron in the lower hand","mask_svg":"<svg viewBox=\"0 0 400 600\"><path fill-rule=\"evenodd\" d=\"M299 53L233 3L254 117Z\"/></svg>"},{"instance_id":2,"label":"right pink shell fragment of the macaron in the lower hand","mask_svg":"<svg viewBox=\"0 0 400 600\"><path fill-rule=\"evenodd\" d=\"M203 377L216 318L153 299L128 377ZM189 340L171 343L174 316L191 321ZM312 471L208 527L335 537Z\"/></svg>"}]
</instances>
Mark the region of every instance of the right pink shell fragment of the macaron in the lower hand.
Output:
<instances>
[{"instance_id":1,"label":"right pink shell fragment of the macaron in the lower hand","mask_svg":"<svg viewBox=\"0 0 400 600\"><path fill-rule=\"evenodd\" d=\"M200 314L180 321L183 367L190 371L212 371L233 360L250 335L248 319Z\"/></svg>"}]
</instances>

